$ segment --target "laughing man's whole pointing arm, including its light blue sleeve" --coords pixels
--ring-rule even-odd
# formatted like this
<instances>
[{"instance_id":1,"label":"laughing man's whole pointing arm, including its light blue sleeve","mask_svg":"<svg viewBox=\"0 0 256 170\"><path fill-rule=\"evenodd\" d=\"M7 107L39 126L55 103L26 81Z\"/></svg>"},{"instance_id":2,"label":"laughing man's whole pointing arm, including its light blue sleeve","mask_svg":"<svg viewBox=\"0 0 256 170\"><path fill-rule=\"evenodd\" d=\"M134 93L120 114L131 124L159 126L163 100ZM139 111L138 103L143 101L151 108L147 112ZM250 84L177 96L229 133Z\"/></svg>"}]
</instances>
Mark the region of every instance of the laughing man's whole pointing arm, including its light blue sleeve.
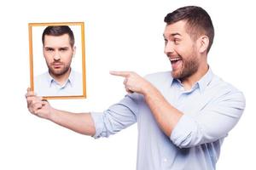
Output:
<instances>
[{"instance_id":1,"label":"laughing man's whole pointing arm, including its light blue sleeve","mask_svg":"<svg viewBox=\"0 0 256 170\"><path fill-rule=\"evenodd\" d=\"M236 125L245 108L243 94L236 92L224 95L214 104L208 105L198 113L198 116L189 116L168 103L157 88L135 72L110 73L125 77L127 92L143 94L161 130L180 148L189 148L223 138Z\"/></svg>"}]
</instances>

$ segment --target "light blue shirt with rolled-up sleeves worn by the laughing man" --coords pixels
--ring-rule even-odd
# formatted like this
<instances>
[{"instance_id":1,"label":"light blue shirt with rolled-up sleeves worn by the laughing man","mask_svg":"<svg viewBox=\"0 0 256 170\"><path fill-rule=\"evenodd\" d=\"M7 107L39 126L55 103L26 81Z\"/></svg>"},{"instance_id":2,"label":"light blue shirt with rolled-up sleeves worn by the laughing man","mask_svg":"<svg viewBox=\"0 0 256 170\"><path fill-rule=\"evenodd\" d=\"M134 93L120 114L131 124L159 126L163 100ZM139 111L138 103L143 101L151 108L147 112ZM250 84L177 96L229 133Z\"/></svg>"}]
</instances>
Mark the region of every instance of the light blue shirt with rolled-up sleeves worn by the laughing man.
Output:
<instances>
[{"instance_id":1,"label":"light blue shirt with rolled-up sleeves worn by the laughing man","mask_svg":"<svg viewBox=\"0 0 256 170\"><path fill-rule=\"evenodd\" d=\"M137 170L215 169L221 144L245 108L243 94L211 69L189 91L172 78L171 71L146 79L183 112L171 136L155 122L143 95L134 93L103 114L91 113L96 126L94 137L108 137L137 122Z\"/></svg>"}]
</instances>

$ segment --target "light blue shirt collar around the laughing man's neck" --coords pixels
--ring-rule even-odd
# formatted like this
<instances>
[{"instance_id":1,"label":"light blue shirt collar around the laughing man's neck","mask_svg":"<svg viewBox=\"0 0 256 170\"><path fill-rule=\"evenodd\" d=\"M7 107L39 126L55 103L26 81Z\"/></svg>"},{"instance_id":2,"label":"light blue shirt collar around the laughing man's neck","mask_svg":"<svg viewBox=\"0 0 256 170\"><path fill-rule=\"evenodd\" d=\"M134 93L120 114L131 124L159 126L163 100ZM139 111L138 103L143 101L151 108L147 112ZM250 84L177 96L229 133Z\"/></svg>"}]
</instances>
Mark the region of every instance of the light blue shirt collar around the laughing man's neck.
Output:
<instances>
[{"instance_id":1,"label":"light blue shirt collar around the laughing man's neck","mask_svg":"<svg viewBox=\"0 0 256 170\"><path fill-rule=\"evenodd\" d=\"M203 92L207 88L208 84L212 81L212 78L213 78L213 72L209 66L207 74L205 74L203 77L201 77L201 79L195 83L195 85L192 87L192 89L197 87L197 88L200 88L201 92ZM180 80L172 78L171 84L173 85L174 82L183 86L182 83L180 82Z\"/></svg>"}]
</instances>

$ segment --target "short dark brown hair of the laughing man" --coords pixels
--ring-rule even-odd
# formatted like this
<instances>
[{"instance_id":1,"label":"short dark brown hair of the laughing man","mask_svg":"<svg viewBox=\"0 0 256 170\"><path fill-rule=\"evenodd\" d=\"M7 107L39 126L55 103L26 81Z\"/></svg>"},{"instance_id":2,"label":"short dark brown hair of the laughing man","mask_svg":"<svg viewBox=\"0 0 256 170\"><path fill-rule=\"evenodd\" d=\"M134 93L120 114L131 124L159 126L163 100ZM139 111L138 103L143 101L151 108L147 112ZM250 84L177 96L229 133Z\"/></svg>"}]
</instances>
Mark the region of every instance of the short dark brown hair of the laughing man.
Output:
<instances>
[{"instance_id":1,"label":"short dark brown hair of the laughing man","mask_svg":"<svg viewBox=\"0 0 256 170\"><path fill-rule=\"evenodd\" d=\"M189 33L190 37L196 39L202 34L205 34L209 38L209 45L207 48L208 53L212 47L214 28L211 17L207 11L201 7L186 6L177 8L165 17L167 25L171 25L179 20L187 21L186 31Z\"/></svg>"}]
</instances>

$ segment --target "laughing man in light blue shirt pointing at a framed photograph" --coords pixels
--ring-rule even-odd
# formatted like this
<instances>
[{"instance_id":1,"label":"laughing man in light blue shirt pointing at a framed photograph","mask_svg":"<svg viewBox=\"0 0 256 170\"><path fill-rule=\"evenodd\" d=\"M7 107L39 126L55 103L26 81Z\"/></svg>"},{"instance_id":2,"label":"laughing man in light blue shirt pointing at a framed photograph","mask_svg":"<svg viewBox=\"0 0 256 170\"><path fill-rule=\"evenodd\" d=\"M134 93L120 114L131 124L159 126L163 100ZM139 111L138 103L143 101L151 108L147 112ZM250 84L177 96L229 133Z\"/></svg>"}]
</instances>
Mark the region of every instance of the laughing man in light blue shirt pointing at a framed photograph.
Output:
<instances>
[{"instance_id":1,"label":"laughing man in light blue shirt pointing at a framed photograph","mask_svg":"<svg viewBox=\"0 0 256 170\"><path fill-rule=\"evenodd\" d=\"M178 8L165 22L165 53L172 71L145 78L111 71L125 77L128 94L103 114L59 111L28 90L29 111L95 138L137 122L138 170L215 169L220 146L241 117L245 99L207 64L214 30L203 8Z\"/></svg>"}]
</instances>

